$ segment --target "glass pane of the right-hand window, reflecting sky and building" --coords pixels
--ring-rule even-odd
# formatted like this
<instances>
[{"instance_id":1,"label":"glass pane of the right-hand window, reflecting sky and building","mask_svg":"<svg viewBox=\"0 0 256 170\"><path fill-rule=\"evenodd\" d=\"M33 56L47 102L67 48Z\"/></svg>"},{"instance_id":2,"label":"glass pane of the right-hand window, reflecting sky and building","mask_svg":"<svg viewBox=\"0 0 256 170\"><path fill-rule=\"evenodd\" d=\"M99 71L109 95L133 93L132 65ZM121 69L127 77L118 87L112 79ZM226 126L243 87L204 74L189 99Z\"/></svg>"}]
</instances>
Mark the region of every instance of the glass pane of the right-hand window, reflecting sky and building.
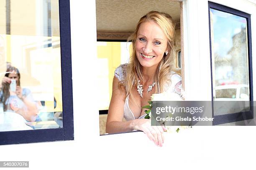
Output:
<instances>
[{"instance_id":1,"label":"glass pane of the right-hand window, reflecting sky and building","mask_svg":"<svg viewBox=\"0 0 256 170\"><path fill-rule=\"evenodd\" d=\"M246 18L210 9L210 22L213 100L249 101ZM245 111L244 105L234 107L238 106L215 107L214 114Z\"/></svg>"}]
</instances>

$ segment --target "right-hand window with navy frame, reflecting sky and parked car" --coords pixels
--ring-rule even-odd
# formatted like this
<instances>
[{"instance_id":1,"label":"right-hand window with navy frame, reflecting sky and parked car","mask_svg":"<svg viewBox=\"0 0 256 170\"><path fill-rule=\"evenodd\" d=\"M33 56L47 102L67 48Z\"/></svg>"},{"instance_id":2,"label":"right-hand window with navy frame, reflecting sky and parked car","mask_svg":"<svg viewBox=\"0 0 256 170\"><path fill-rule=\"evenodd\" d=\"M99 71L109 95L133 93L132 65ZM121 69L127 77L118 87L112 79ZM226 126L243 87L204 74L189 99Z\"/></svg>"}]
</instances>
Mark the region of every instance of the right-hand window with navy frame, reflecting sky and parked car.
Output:
<instances>
[{"instance_id":1,"label":"right-hand window with navy frame, reflecting sky and parked car","mask_svg":"<svg viewBox=\"0 0 256 170\"><path fill-rule=\"evenodd\" d=\"M253 118L250 15L208 2L213 124Z\"/></svg>"}]
</instances>

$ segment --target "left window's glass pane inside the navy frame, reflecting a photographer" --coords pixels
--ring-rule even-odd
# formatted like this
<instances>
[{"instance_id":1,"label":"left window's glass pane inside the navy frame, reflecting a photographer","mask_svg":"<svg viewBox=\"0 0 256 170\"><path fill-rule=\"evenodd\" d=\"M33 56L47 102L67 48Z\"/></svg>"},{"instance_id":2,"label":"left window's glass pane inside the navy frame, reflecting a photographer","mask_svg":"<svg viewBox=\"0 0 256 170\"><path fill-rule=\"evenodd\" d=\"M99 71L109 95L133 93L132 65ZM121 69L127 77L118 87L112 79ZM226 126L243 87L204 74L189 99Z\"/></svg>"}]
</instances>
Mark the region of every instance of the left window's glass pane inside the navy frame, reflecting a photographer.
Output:
<instances>
[{"instance_id":1,"label":"left window's glass pane inside the navy frame, reflecting a photographer","mask_svg":"<svg viewBox=\"0 0 256 170\"><path fill-rule=\"evenodd\" d=\"M62 128L59 1L2 0L0 9L0 131ZM16 85L5 82L18 72Z\"/></svg>"}]
</instances>

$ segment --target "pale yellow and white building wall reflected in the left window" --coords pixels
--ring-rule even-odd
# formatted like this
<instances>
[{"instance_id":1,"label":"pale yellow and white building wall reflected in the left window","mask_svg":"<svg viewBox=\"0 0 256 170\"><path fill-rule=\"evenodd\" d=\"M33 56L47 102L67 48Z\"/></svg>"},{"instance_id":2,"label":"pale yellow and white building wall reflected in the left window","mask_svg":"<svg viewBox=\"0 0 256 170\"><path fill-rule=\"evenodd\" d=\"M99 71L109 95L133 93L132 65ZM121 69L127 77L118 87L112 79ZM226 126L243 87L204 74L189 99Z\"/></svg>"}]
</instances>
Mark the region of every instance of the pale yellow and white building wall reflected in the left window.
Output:
<instances>
[{"instance_id":1,"label":"pale yellow and white building wall reflected in the left window","mask_svg":"<svg viewBox=\"0 0 256 170\"><path fill-rule=\"evenodd\" d=\"M43 0L10 2L11 35L6 35L5 0L0 1L0 80L6 62L11 62L20 71L21 86L29 88L35 100L46 101L53 111L55 96L55 111L62 111L59 1L50 1L51 37L44 35L48 25ZM44 46L49 43L52 47Z\"/></svg>"}]
</instances>

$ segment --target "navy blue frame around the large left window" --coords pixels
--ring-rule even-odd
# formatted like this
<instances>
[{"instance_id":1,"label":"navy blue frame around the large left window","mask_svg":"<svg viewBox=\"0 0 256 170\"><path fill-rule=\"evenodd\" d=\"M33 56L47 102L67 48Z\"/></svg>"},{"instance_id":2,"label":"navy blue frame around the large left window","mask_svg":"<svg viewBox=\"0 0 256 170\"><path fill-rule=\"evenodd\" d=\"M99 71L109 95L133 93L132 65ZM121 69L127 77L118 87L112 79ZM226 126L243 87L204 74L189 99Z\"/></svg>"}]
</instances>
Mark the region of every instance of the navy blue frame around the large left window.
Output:
<instances>
[{"instance_id":1,"label":"navy blue frame around the large left window","mask_svg":"<svg viewBox=\"0 0 256 170\"><path fill-rule=\"evenodd\" d=\"M63 128L0 132L0 145L74 140L69 0L59 0Z\"/></svg>"}]
</instances>

